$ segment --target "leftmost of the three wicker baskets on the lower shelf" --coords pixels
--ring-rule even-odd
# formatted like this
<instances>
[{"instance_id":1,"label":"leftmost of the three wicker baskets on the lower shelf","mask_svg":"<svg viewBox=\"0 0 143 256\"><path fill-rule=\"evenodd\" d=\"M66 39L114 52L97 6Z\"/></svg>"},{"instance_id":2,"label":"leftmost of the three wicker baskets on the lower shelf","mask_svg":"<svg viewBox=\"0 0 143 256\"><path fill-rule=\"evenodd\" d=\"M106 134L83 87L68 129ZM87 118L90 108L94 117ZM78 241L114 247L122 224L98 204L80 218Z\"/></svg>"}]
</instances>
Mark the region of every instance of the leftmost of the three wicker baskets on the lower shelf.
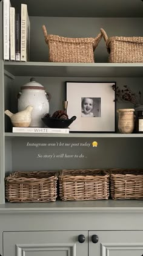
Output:
<instances>
[{"instance_id":1,"label":"leftmost of the three wicker baskets on the lower shelf","mask_svg":"<svg viewBox=\"0 0 143 256\"><path fill-rule=\"evenodd\" d=\"M5 177L5 198L9 202L56 201L57 180L56 172L13 172Z\"/></svg>"}]
</instances>

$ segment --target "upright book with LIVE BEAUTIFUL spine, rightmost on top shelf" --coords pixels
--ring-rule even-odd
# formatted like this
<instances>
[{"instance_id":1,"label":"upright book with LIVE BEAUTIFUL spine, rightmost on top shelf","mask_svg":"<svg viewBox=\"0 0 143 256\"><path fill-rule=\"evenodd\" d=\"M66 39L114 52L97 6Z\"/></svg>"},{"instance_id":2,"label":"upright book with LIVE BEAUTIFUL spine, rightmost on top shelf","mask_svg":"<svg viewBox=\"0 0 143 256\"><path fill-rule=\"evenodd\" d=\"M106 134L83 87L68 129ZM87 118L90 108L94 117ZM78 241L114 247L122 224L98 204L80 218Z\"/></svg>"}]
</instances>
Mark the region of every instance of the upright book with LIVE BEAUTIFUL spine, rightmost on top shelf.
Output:
<instances>
[{"instance_id":1,"label":"upright book with LIVE BEAUTIFUL spine, rightmost on top shelf","mask_svg":"<svg viewBox=\"0 0 143 256\"><path fill-rule=\"evenodd\" d=\"M21 61L27 61L27 4L21 4Z\"/></svg>"}]
</instances>

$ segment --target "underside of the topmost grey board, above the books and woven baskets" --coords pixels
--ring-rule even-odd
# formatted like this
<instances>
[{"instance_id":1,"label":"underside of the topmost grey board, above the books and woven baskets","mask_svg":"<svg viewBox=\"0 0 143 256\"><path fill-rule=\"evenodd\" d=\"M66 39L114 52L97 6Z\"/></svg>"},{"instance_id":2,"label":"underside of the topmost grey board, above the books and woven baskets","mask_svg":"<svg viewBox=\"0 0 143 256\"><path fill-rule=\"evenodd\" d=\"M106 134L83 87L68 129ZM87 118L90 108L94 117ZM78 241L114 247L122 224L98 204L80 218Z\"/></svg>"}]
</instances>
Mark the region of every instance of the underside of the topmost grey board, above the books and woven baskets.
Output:
<instances>
[{"instance_id":1,"label":"underside of the topmost grey board, above the books and woven baskets","mask_svg":"<svg viewBox=\"0 0 143 256\"><path fill-rule=\"evenodd\" d=\"M28 4L30 16L63 17L142 17L141 0L11 0L16 12Z\"/></svg>"}]
</instances>

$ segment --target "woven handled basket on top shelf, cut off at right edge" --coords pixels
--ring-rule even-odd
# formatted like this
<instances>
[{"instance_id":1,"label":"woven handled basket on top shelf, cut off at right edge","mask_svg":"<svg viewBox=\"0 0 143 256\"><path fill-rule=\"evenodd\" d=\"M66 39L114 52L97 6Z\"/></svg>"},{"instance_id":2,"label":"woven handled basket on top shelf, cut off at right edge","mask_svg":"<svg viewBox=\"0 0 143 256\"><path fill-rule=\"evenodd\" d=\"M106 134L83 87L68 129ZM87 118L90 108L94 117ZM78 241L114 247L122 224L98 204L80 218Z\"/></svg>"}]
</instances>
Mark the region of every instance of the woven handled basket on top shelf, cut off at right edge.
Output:
<instances>
[{"instance_id":1,"label":"woven handled basket on top shelf, cut off at right edge","mask_svg":"<svg viewBox=\"0 0 143 256\"><path fill-rule=\"evenodd\" d=\"M101 29L107 51L108 61L114 63L143 62L143 37L107 37Z\"/></svg>"}]
</instances>

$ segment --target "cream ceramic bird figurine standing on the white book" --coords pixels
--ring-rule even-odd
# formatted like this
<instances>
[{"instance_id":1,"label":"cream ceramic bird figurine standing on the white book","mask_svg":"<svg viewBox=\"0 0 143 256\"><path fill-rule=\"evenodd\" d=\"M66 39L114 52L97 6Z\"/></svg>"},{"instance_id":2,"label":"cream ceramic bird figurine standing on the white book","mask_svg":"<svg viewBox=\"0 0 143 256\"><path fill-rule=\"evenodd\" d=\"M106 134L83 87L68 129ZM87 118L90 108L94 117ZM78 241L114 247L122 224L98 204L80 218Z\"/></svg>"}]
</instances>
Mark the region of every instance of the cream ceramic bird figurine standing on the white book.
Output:
<instances>
[{"instance_id":1,"label":"cream ceramic bird figurine standing on the white book","mask_svg":"<svg viewBox=\"0 0 143 256\"><path fill-rule=\"evenodd\" d=\"M27 106L25 110L13 114L9 110L5 110L5 114L10 117L10 120L15 127L28 127L32 121L32 106Z\"/></svg>"}]
</instances>

